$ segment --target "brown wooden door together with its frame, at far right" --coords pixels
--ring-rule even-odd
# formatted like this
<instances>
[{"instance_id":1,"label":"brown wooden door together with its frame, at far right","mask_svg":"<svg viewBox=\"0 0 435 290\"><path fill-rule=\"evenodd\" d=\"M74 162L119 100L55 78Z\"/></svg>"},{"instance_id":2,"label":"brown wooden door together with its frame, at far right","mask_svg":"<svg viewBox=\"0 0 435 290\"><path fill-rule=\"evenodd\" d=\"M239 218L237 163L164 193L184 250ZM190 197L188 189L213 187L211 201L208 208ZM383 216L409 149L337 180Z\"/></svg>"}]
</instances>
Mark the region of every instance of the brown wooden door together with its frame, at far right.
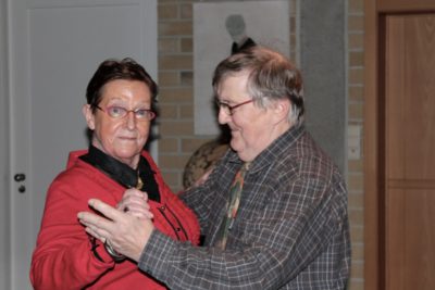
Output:
<instances>
[{"instance_id":1,"label":"brown wooden door together with its frame, at far right","mask_svg":"<svg viewBox=\"0 0 435 290\"><path fill-rule=\"evenodd\" d=\"M435 289L435 1L368 9L365 289Z\"/></svg>"}]
</instances>

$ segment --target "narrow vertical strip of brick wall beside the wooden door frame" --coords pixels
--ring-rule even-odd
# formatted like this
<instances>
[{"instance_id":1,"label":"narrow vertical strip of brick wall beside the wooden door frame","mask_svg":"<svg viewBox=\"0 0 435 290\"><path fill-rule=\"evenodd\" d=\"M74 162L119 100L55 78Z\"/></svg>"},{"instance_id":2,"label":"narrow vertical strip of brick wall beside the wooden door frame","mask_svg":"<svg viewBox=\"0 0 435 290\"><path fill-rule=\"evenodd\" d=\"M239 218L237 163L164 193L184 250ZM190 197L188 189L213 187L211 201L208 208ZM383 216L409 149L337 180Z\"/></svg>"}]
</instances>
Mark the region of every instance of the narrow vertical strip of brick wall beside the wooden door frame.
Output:
<instances>
[{"instance_id":1,"label":"narrow vertical strip of brick wall beside the wooden door frame","mask_svg":"<svg viewBox=\"0 0 435 290\"><path fill-rule=\"evenodd\" d=\"M348 125L363 130L363 62L364 8L363 0L347 0L348 7ZM362 134L361 134L362 136ZM348 161L349 218L352 240L352 273L350 290L364 289L364 190L363 151L361 159Z\"/></svg>"}]
</instances>

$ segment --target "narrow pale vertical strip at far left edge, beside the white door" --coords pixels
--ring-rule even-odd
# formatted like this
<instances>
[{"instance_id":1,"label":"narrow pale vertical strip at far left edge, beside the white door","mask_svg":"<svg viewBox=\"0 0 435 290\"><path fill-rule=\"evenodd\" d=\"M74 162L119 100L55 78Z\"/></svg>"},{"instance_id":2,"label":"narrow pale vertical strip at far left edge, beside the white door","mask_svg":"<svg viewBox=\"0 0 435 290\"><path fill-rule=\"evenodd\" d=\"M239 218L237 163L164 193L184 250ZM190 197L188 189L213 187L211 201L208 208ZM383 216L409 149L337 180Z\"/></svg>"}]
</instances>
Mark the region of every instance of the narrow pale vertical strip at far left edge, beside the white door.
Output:
<instances>
[{"instance_id":1,"label":"narrow pale vertical strip at far left edge, beside the white door","mask_svg":"<svg viewBox=\"0 0 435 290\"><path fill-rule=\"evenodd\" d=\"M7 3L0 0L0 289L10 289L9 265L9 103L7 61Z\"/></svg>"}]
</instances>

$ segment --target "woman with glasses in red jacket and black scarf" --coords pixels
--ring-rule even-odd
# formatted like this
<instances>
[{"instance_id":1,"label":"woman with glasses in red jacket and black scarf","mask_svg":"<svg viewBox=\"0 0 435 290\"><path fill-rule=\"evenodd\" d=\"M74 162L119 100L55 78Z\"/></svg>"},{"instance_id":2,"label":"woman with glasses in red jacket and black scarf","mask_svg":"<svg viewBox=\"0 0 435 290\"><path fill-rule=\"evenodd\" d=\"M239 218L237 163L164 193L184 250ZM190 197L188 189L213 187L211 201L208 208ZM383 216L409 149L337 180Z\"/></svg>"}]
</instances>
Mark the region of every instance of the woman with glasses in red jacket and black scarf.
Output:
<instances>
[{"instance_id":1,"label":"woman with glasses in red jacket and black scarf","mask_svg":"<svg viewBox=\"0 0 435 290\"><path fill-rule=\"evenodd\" d=\"M32 260L35 289L165 289L113 251L109 241L101 243L86 234L76 216L88 210L90 198L139 218L144 206L150 206L157 228L173 239L199 242L196 216L144 151L157 93L157 84L132 59L104 61L90 79L83 113L92 131L91 144L70 153L67 168L48 190ZM126 188L147 194L124 194Z\"/></svg>"}]
</instances>

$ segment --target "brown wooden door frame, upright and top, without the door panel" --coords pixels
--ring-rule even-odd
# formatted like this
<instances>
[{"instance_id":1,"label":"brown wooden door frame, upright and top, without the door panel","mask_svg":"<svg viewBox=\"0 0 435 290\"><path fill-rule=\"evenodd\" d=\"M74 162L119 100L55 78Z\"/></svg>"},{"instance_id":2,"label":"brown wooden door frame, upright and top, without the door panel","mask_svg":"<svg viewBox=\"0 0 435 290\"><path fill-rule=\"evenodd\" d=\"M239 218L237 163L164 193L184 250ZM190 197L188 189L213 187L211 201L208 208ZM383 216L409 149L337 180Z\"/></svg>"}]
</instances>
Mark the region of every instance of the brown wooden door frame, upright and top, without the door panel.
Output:
<instances>
[{"instance_id":1,"label":"brown wooden door frame, upright and top, without the door panel","mask_svg":"<svg viewBox=\"0 0 435 290\"><path fill-rule=\"evenodd\" d=\"M364 1L364 289L385 289L383 16L435 11L433 0Z\"/></svg>"}]
</instances>

